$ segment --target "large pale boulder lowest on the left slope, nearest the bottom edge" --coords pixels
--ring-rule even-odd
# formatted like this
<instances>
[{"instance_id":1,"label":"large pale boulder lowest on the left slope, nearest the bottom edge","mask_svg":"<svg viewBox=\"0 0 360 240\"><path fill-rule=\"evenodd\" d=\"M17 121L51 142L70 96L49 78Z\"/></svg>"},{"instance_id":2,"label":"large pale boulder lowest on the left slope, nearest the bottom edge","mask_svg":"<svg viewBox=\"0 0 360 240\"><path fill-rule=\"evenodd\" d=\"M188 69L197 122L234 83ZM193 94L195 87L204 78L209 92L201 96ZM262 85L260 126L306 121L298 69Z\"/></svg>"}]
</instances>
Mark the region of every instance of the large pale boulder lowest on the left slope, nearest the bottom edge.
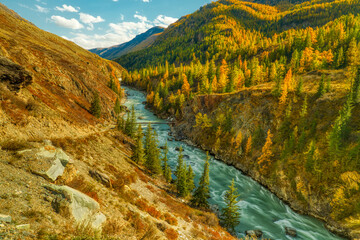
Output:
<instances>
[{"instance_id":1,"label":"large pale boulder lowest on the left slope, nearest the bottom edge","mask_svg":"<svg viewBox=\"0 0 360 240\"><path fill-rule=\"evenodd\" d=\"M99 229L106 221L106 216L99 211L99 203L84 193L68 186L47 185L45 188L68 200L69 212L77 223Z\"/></svg>"}]
</instances>

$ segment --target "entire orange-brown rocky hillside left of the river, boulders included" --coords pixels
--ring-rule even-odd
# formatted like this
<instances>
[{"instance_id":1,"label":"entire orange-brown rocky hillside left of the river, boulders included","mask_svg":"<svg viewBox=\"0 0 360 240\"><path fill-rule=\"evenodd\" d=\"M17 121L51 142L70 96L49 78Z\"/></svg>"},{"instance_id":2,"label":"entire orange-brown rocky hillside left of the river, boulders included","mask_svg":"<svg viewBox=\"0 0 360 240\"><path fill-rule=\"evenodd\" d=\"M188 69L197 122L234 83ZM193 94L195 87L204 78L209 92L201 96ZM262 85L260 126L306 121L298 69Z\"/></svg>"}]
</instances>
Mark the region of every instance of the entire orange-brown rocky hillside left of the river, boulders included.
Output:
<instances>
[{"instance_id":1,"label":"entire orange-brown rocky hillside left of the river, boulders included","mask_svg":"<svg viewBox=\"0 0 360 240\"><path fill-rule=\"evenodd\" d=\"M120 65L2 4L0 23L1 239L234 239L131 160Z\"/></svg>"}]
</instances>

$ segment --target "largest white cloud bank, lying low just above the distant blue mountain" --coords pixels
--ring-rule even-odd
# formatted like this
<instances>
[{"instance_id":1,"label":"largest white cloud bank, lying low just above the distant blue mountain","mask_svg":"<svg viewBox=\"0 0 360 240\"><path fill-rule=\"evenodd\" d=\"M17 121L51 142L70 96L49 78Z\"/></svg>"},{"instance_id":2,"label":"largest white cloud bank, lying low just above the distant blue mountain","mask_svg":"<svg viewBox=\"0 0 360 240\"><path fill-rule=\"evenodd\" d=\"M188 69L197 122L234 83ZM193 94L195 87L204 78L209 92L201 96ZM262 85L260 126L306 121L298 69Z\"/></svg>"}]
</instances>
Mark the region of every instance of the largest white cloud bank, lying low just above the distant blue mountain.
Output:
<instances>
[{"instance_id":1,"label":"largest white cloud bank, lying low just above the distant blue mountain","mask_svg":"<svg viewBox=\"0 0 360 240\"><path fill-rule=\"evenodd\" d=\"M164 15L157 16L153 21L148 20L145 16L139 15L137 12L134 17L137 21L129 22L122 21L120 23L109 23L109 29L105 34L84 34L72 33L73 37L63 38L73 41L76 44L86 49L103 48L118 45L133 39L136 35L146 32L148 29L155 26L167 27L169 24L175 22L177 19L167 17ZM89 18L90 19L90 18ZM96 19L96 18L95 18ZM84 20L84 21L83 21ZM89 24L83 17L82 22ZM91 21L91 24L95 23Z\"/></svg>"}]
</instances>

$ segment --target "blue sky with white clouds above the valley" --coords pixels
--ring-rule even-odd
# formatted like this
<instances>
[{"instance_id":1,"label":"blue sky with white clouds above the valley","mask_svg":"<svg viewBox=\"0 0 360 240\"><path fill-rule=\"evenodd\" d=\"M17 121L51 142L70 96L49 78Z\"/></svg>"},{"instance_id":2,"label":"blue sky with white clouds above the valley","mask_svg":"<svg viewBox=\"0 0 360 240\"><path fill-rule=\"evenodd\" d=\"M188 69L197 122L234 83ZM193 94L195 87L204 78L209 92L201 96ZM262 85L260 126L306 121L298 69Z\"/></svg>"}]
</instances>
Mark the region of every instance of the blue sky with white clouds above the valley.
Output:
<instances>
[{"instance_id":1,"label":"blue sky with white clouds above the valley","mask_svg":"<svg viewBox=\"0 0 360 240\"><path fill-rule=\"evenodd\" d=\"M39 28L83 48L109 47L166 27L211 0L1 0Z\"/></svg>"}]
</instances>

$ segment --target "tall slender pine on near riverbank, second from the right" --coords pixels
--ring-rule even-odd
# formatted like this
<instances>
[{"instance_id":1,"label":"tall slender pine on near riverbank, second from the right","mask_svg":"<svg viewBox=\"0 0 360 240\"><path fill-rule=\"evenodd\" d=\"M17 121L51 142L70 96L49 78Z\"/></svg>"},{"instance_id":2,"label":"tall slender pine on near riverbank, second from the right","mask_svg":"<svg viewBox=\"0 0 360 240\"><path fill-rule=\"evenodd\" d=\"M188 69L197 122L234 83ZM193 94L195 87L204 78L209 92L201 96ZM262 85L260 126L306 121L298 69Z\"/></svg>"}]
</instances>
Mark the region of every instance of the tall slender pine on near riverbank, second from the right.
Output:
<instances>
[{"instance_id":1,"label":"tall slender pine on near riverbank, second from the right","mask_svg":"<svg viewBox=\"0 0 360 240\"><path fill-rule=\"evenodd\" d=\"M199 186L196 188L193 193L191 203L197 207L208 209L209 203L208 199L210 198L210 177L209 177L209 154L206 155L206 161L204 164L204 171L200 177Z\"/></svg>"}]
</instances>

